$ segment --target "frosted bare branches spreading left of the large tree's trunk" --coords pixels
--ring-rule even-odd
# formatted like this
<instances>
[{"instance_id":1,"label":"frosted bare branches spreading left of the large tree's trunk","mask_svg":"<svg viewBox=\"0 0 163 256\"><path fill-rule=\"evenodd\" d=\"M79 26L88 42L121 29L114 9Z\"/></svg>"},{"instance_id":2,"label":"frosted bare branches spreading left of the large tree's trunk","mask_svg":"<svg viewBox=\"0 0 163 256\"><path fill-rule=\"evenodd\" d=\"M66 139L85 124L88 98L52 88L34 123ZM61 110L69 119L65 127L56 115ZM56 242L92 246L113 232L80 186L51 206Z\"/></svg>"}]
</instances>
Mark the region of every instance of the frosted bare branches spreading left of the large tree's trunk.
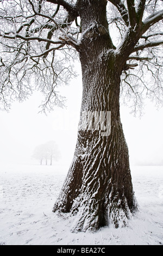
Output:
<instances>
[{"instance_id":1,"label":"frosted bare branches spreading left of the large tree's trunk","mask_svg":"<svg viewBox=\"0 0 163 256\"><path fill-rule=\"evenodd\" d=\"M41 0L20 2L5 2L1 6L2 107L9 109L12 101L26 99L35 89L45 95L42 111L55 105L62 107L65 99L56 88L76 75L70 65L70 59L76 55L70 44L64 47L67 42L59 38L71 34L74 17L57 4Z\"/></svg>"}]
</instances>

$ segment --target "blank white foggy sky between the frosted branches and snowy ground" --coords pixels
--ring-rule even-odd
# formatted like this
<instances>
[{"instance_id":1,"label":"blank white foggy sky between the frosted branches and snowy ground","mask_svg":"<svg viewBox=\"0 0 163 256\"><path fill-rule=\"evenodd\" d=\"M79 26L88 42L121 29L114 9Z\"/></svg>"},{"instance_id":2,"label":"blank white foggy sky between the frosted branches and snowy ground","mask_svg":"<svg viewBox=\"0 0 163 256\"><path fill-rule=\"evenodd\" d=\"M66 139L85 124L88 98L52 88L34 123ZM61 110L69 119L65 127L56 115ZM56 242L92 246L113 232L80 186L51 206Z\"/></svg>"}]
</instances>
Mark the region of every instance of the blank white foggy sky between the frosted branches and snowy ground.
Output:
<instances>
[{"instance_id":1,"label":"blank white foggy sky between the frosted branches and snowy ground","mask_svg":"<svg viewBox=\"0 0 163 256\"><path fill-rule=\"evenodd\" d=\"M34 148L47 141L55 141L61 151L61 162L70 164L77 140L77 129L82 97L82 78L72 80L63 87L67 108L55 108L47 116L38 114L41 103L34 93L23 103L15 102L9 113L0 112L0 164L32 163ZM130 109L121 107L121 121L129 147L130 163L163 165L163 109L157 111L148 102L145 115L135 118Z\"/></svg>"}]
</instances>

